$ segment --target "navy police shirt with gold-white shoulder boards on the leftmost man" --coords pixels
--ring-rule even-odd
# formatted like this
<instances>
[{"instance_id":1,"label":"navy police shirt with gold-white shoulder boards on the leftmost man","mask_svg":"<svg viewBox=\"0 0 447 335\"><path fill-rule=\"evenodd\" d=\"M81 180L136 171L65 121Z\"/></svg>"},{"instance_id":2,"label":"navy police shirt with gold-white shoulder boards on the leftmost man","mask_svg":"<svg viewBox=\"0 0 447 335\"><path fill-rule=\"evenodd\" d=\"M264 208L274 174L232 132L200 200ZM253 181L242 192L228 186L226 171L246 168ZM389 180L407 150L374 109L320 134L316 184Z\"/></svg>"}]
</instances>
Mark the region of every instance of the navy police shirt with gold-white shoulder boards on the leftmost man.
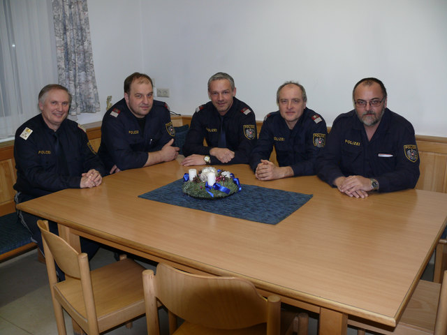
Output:
<instances>
[{"instance_id":1,"label":"navy police shirt with gold-white shoulder boards on the leftmost man","mask_svg":"<svg viewBox=\"0 0 447 335\"><path fill-rule=\"evenodd\" d=\"M59 136L66 163L58 161L54 133ZM89 144L85 130L65 119L56 132L48 128L42 114L20 126L14 141L16 191L38 198L65 188L80 188L81 174L91 169L105 174L101 160Z\"/></svg>"}]
</instances>

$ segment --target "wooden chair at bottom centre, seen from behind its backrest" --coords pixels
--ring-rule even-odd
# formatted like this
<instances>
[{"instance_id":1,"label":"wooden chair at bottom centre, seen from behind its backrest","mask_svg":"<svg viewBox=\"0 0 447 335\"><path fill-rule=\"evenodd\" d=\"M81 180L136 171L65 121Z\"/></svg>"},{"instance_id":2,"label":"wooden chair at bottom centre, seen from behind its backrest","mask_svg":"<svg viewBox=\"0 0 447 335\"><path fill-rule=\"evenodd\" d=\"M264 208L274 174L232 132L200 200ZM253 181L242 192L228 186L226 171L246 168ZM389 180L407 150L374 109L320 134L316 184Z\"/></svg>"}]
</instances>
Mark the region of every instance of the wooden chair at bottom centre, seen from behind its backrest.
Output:
<instances>
[{"instance_id":1,"label":"wooden chair at bottom centre, seen from behind its backrest","mask_svg":"<svg viewBox=\"0 0 447 335\"><path fill-rule=\"evenodd\" d=\"M298 320L293 313L281 322L280 298L265 299L243 278L188 274L160 263L156 275L143 272L143 286L149 335L159 335L157 303L168 308L170 334L175 335L291 334ZM184 320L178 328L177 317Z\"/></svg>"}]
</instances>

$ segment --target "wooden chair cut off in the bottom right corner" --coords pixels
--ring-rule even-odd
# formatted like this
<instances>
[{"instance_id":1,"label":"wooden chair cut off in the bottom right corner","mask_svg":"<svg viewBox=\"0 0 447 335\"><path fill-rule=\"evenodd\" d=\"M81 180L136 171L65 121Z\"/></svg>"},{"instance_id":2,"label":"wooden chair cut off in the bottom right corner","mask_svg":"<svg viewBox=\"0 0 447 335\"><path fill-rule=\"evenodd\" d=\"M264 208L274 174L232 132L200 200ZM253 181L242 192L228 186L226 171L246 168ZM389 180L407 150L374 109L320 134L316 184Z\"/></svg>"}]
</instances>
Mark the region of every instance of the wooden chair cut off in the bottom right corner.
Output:
<instances>
[{"instance_id":1,"label":"wooden chair cut off in the bottom right corner","mask_svg":"<svg viewBox=\"0 0 447 335\"><path fill-rule=\"evenodd\" d=\"M364 335L365 329L379 334L447 334L447 271L444 271L442 285L432 281L419 281L393 332L360 322L348 320L348 323L359 328L358 335Z\"/></svg>"}]
</instances>

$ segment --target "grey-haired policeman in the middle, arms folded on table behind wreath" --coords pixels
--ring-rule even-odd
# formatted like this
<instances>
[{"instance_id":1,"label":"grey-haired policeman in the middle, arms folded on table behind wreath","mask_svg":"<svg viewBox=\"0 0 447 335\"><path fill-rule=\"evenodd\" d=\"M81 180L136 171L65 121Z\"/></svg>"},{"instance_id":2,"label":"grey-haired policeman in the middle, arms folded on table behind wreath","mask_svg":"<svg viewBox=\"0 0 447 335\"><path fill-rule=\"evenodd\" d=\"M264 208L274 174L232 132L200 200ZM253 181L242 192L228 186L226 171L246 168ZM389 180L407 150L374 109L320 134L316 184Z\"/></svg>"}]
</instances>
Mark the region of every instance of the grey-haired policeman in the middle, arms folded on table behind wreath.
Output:
<instances>
[{"instance_id":1,"label":"grey-haired policeman in the middle, arms folded on table behind wreath","mask_svg":"<svg viewBox=\"0 0 447 335\"><path fill-rule=\"evenodd\" d=\"M235 98L233 78L216 73L208 80L210 102L197 107L186 135L182 165L247 164L256 144L256 119ZM207 146L203 145L203 140Z\"/></svg>"}]
</instances>

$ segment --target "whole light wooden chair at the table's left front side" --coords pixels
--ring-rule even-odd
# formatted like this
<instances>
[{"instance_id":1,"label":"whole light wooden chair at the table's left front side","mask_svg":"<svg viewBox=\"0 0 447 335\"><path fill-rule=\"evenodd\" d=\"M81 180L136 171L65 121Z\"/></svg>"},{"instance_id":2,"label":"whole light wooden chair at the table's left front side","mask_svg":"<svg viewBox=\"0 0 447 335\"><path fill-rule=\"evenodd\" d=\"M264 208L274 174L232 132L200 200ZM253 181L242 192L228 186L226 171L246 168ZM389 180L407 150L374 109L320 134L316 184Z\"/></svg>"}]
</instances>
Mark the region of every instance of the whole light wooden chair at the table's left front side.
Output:
<instances>
[{"instance_id":1,"label":"whole light wooden chair at the table's left front side","mask_svg":"<svg viewBox=\"0 0 447 335\"><path fill-rule=\"evenodd\" d=\"M145 313L143 267L124 258L90 271L87 253L78 253L38 221L59 335L66 334L64 308L84 332L99 334ZM54 260L66 274L57 283Z\"/></svg>"}]
</instances>

